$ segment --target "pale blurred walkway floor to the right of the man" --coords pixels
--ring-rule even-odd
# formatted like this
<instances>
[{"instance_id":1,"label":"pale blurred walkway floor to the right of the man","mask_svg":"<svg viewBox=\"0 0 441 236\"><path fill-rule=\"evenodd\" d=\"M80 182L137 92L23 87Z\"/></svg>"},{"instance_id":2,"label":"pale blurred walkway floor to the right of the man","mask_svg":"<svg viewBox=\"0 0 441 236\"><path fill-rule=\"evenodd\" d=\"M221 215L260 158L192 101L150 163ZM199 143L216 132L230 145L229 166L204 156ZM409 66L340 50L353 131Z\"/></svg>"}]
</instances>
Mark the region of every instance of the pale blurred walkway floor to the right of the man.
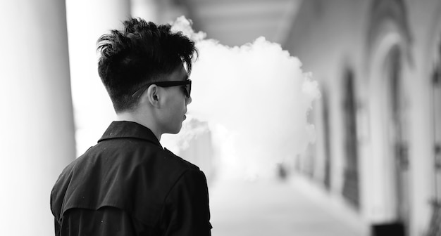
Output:
<instances>
[{"instance_id":1,"label":"pale blurred walkway floor to the right of the man","mask_svg":"<svg viewBox=\"0 0 441 236\"><path fill-rule=\"evenodd\" d=\"M290 182L213 182L212 235L366 236L316 203Z\"/></svg>"}]
</instances>

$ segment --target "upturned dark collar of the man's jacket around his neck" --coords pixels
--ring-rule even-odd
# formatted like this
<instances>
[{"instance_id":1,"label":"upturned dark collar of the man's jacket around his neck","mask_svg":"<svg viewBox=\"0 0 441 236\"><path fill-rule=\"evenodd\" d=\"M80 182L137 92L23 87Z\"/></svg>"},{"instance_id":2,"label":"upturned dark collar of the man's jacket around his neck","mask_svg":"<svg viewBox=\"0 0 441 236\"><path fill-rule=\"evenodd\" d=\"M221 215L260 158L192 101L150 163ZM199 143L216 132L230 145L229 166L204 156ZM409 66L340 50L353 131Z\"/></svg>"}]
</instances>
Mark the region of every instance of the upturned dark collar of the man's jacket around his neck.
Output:
<instances>
[{"instance_id":1,"label":"upturned dark collar of the man's jacket around his neck","mask_svg":"<svg viewBox=\"0 0 441 236\"><path fill-rule=\"evenodd\" d=\"M112 122L98 142L113 138L140 138L162 147L149 128L136 122Z\"/></svg>"}]
</instances>

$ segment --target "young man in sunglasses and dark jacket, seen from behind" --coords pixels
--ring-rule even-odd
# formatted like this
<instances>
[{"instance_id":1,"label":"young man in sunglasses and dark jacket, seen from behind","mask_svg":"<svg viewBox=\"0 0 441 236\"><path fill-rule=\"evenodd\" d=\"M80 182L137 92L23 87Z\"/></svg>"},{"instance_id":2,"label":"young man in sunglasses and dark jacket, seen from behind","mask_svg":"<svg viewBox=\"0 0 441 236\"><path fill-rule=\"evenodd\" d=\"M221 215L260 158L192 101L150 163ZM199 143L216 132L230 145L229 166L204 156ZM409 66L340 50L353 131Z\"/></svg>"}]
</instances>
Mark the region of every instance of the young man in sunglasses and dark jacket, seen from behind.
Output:
<instances>
[{"instance_id":1,"label":"young man in sunglasses and dark jacket, seen from behind","mask_svg":"<svg viewBox=\"0 0 441 236\"><path fill-rule=\"evenodd\" d=\"M117 120L56 181L55 234L211 235L204 173L159 143L180 131L192 101L194 42L130 19L98 43Z\"/></svg>"}]
</instances>

